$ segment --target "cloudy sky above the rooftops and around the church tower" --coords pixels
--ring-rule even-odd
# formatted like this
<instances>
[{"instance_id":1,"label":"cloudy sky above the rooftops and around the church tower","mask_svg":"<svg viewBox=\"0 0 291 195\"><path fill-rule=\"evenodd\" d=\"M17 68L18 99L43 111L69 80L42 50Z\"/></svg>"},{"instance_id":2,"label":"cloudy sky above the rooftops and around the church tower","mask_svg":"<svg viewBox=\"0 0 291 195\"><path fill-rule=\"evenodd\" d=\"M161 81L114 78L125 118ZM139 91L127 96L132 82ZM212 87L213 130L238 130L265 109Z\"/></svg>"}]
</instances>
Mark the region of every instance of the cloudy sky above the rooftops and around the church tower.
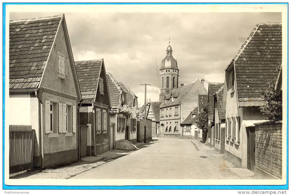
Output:
<instances>
[{"instance_id":1,"label":"cloudy sky above the rooftops and around the church tower","mask_svg":"<svg viewBox=\"0 0 291 195\"><path fill-rule=\"evenodd\" d=\"M224 82L224 68L258 22L281 22L281 13L10 12L10 20L65 14L75 61L104 58L106 71L144 101L159 100L159 68L171 36L179 85L197 79Z\"/></svg>"}]
</instances>

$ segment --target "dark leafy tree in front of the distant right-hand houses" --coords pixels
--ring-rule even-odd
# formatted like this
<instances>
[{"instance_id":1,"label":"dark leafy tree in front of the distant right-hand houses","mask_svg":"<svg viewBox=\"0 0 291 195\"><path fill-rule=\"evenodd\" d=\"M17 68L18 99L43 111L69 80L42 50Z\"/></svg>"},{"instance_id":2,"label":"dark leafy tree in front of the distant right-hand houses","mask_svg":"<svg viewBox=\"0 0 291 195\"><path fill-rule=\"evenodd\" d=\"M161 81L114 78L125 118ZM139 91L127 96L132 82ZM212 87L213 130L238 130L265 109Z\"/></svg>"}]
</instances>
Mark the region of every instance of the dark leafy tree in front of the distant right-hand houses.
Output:
<instances>
[{"instance_id":1,"label":"dark leafy tree in front of the distant right-hand houses","mask_svg":"<svg viewBox=\"0 0 291 195\"><path fill-rule=\"evenodd\" d=\"M194 125L202 129L202 142L205 143L208 132L208 109L207 106L203 107L197 116L194 118Z\"/></svg>"}]
</instances>

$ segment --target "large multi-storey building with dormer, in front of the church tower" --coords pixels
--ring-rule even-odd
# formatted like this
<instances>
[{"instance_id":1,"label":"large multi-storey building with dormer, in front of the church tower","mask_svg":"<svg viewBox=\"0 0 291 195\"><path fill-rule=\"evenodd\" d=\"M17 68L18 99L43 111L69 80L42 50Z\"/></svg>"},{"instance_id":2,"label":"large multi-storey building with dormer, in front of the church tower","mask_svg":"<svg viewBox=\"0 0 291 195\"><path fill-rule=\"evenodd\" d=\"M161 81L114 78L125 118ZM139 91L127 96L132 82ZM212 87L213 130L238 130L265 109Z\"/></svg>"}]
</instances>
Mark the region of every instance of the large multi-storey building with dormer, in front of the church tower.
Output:
<instances>
[{"instance_id":1,"label":"large multi-storey building with dormer, in front of the church tower","mask_svg":"<svg viewBox=\"0 0 291 195\"><path fill-rule=\"evenodd\" d=\"M160 105L160 133L163 137L183 136L180 123L198 105L198 94L207 93L198 79L195 83L174 88Z\"/></svg>"}]
</instances>

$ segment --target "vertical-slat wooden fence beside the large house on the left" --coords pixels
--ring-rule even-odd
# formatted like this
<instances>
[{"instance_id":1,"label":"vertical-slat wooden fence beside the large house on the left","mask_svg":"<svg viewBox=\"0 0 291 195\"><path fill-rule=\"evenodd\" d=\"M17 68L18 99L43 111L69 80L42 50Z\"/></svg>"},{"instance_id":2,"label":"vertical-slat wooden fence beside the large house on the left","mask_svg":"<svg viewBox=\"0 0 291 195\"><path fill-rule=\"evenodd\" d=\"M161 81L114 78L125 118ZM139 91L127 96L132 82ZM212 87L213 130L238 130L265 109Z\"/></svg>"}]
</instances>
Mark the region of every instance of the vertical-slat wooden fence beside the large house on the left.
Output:
<instances>
[{"instance_id":1,"label":"vertical-slat wooden fence beside the large house on the left","mask_svg":"<svg viewBox=\"0 0 291 195\"><path fill-rule=\"evenodd\" d=\"M34 134L31 125L9 125L9 174L33 168Z\"/></svg>"}]
</instances>

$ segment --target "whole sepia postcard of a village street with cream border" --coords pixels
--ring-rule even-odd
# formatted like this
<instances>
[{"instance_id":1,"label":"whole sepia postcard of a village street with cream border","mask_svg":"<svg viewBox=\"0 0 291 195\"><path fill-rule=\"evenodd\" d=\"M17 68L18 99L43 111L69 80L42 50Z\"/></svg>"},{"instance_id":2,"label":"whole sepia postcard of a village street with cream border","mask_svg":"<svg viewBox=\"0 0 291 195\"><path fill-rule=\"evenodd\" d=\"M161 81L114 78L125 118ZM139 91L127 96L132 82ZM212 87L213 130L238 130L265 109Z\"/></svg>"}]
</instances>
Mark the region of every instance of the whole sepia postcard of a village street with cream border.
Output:
<instances>
[{"instance_id":1,"label":"whole sepia postcard of a village street with cream border","mask_svg":"<svg viewBox=\"0 0 291 195\"><path fill-rule=\"evenodd\" d=\"M5 184L285 185L287 9L6 5Z\"/></svg>"}]
</instances>

